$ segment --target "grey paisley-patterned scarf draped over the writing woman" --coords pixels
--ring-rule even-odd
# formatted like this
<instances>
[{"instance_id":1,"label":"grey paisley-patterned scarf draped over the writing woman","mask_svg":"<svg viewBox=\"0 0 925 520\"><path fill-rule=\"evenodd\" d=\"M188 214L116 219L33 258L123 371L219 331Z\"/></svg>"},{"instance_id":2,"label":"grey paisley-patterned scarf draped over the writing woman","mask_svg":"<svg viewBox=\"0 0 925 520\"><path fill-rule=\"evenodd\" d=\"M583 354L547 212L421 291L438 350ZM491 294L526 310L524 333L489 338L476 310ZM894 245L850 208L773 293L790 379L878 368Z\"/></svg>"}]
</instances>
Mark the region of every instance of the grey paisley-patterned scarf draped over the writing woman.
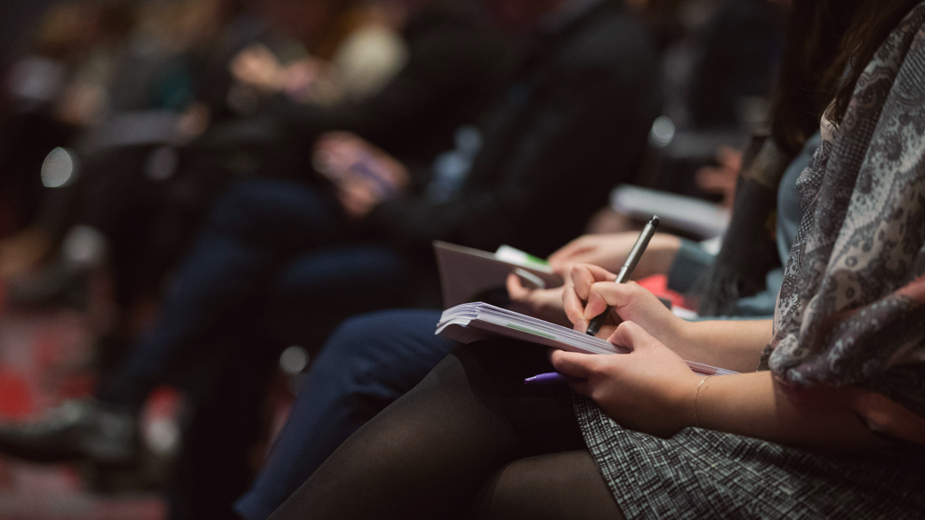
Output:
<instances>
[{"instance_id":1,"label":"grey paisley-patterned scarf draped over the writing woman","mask_svg":"<svg viewBox=\"0 0 925 520\"><path fill-rule=\"evenodd\" d=\"M792 388L859 387L871 428L925 443L925 3L822 135L762 367Z\"/></svg>"}]
</instances>

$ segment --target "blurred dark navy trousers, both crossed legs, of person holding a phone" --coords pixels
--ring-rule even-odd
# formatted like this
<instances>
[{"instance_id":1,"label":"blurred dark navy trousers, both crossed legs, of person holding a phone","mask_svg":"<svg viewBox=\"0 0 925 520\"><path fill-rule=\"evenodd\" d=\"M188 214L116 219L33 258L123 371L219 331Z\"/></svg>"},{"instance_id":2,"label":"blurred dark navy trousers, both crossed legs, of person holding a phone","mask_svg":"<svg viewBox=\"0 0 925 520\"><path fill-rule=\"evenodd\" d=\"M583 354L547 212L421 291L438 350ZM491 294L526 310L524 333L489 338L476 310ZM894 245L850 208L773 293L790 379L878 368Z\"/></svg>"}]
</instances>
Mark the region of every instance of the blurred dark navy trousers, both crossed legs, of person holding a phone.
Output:
<instances>
[{"instance_id":1,"label":"blurred dark navy trousers, both crossed legs, of person holding a phone","mask_svg":"<svg viewBox=\"0 0 925 520\"><path fill-rule=\"evenodd\" d=\"M347 316L404 303L408 285L401 254L351 241L324 192L280 180L230 188L179 268L154 329L98 392L101 401L138 411L157 384L186 390L192 413L171 516L230 516L249 481L260 396L286 345L268 321L289 313L320 342Z\"/></svg>"}]
</instances>

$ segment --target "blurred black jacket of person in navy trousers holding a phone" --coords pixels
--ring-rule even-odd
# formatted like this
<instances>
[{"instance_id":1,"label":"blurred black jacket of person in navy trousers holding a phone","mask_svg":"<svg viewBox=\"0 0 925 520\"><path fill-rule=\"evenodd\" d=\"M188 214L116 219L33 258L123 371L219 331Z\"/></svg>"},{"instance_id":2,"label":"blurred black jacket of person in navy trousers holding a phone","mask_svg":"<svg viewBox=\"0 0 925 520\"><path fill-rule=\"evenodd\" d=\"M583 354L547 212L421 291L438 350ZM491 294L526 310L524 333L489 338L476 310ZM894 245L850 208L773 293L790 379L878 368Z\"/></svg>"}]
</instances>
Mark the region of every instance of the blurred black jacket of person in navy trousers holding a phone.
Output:
<instances>
[{"instance_id":1,"label":"blurred black jacket of person in navy trousers holding a phone","mask_svg":"<svg viewBox=\"0 0 925 520\"><path fill-rule=\"evenodd\" d=\"M542 36L483 119L483 148L450 201L387 201L368 218L424 254L438 239L549 254L581 233L611 187L635 180L660 109L657 58L621 2Z\"/></svg>"}]
</instances>

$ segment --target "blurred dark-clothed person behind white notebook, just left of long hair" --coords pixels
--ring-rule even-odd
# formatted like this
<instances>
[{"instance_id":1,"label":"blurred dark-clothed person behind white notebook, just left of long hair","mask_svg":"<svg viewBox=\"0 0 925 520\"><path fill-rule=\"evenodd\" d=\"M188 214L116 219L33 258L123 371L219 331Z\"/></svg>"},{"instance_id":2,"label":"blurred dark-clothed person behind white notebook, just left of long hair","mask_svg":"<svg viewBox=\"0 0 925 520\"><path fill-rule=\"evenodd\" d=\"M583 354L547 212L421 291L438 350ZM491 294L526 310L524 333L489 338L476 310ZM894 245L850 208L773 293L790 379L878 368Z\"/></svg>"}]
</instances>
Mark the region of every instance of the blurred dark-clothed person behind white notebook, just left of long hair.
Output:
<instances>
[{"instance_id":1,"label":"blurred dark-clothed person behind white notebook, just left of long hair","mask_svg":"<svg viewBox=\"0 0 925 520\"><path fill-rule=\"evenodd\" d=\"M752 132L768 131L789 0L640 3L664 47L666 103L652 129L639 185L728 207L741 161L737 149ZM709 169L701 171L702 167ZM663 221L671 223L671 218ZM641 226L632 217L605 208L588 230L615 232ZM717 222L716 227L722 224ZM697 233L688 236L709 238Z\"/></svg>"}]
</instances>

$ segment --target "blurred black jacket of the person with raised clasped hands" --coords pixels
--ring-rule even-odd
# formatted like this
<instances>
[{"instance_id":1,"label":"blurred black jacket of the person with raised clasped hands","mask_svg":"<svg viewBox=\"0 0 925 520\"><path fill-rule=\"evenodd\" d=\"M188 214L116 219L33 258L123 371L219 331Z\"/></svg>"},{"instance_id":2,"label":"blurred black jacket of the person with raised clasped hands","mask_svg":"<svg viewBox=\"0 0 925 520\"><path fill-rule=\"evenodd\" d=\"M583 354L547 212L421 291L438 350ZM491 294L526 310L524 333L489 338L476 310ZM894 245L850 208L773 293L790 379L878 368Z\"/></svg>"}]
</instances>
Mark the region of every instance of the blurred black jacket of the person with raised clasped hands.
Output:
<instances>
[{"instance_id":1,"label":"blurred black jacket of the person with raised clasped hands","mask_svg":"<svg viewBox=\"0 0 925 520\"><path fill-rule=\"evenodd\" d=\"M290 137L304 146L323 131L349 130L403 161L429 164L452 147L456 127L475 122L516 65L515 45L472 0L426 7L403 36L406 65L364 102L325 108L277 99Z\"/></svg>"}]
</instances>

